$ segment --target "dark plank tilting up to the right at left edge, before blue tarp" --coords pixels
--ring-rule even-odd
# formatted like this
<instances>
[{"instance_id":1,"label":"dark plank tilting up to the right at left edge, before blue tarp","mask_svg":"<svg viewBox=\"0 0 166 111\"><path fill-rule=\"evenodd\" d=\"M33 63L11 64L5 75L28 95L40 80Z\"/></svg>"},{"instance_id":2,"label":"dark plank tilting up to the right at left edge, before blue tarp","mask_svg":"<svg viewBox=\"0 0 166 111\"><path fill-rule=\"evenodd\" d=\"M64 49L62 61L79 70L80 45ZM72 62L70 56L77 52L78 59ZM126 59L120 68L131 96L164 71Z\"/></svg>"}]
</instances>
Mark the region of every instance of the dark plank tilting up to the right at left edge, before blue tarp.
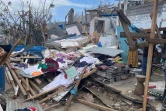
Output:
<instances>
[{"instance_id":1,"label":"dark plank tilting up to the right at left edge, before blue tarp","mask_svg":"<svg viewBox=\"0 0 166 111\"><path fill-rule=\"evenodd\" d=\"M13 48L9 51L9 53L4 58L4 60L0 62L0 67L7 61L7 59L10 57L11 53L14 51L14 49L17 47L17 45L20 43L21 40L22 40L22 38L18 39L18 41L15 43L15 45L13 46Z\"/></svg>"}]
</instances>

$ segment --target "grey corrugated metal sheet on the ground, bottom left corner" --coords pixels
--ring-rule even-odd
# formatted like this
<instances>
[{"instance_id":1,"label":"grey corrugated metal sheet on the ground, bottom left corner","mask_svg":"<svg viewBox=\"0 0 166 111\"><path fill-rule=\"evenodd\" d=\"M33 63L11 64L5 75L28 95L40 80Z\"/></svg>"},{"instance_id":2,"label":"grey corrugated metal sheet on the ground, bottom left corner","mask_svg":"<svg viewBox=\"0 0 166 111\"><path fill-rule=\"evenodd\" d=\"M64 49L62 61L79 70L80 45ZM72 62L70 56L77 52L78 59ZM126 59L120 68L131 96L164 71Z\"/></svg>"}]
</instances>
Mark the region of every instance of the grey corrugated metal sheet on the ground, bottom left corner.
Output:
<instances>
[{"instance_id":1,"label":"grey corrugated metal sheet on the ground, bottom left corner","mask_svg":"<svg viewBox=\"0 0 166 111\"><path fill-rule=\"evenodd\" d=\"M38 102L19 102L15 100L7 100L6 111L14 111L16 109L24 109L28 107L35 107L37 111L43 111Z\"/></svg>"}]
</instances>

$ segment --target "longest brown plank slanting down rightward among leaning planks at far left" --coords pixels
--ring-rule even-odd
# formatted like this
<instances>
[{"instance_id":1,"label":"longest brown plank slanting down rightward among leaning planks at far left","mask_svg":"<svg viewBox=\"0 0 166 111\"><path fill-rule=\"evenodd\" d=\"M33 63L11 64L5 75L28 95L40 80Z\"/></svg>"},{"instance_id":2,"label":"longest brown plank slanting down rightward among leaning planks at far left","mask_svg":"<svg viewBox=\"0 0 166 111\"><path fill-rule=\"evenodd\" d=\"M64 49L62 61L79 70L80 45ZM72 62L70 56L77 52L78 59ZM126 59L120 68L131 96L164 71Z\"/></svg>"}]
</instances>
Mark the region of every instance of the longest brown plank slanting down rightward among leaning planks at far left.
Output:
<instances>
[{"instance_id":1,"label":"longest brown plank slanting down rightward among leaning planks at far left","mask_svg":"<svg viewBox=\"0 0 166 111\"><path fill-rule=\"evenodd\" d=\"M6 62L6 64L7 64L7 67L9 68L9 70L10 70L10 72L11 72L13 78L14 78L15 81L17 82L17 84L18 84L18 86L19 86L21 92L23 93L24 96L27 96L27 93L26 93L25 89L23 88L22 84L20 83L20 81L19 81L19 79L18 79L16 73L10 68L10 65L9 65L8 62Z\"/></svg>"}]
</instances>

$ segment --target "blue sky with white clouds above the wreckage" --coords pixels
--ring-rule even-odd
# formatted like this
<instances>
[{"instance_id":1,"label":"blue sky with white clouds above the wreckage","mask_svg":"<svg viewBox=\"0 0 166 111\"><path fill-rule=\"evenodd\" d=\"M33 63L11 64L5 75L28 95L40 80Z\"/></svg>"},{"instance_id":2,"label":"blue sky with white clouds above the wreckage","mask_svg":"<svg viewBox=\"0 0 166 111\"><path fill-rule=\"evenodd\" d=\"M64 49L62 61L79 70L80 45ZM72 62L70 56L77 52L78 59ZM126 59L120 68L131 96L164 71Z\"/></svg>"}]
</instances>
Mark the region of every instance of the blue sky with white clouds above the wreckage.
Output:
<instances>
[{"instance_id":1,"label":"blue sky with white clouds above the wreckage","mask_svg":"<svg viewBox=\"0 0 166 111\"><path fill-rule=\"evenodd\" d=\"M17 11L21 9L21 1L24 2L24 7L27 7L27 1L30 0L2 0L6 4L8 2L12 2L12 5L10 6L12 11ZM39 6L44 0L31 0L34 7ZM52 0L46 0L46 5L49 6ZM114 3L115 0L54 0L55 7L51 10L51 13L53 15L52 21L59 20L64 21L66 14L71 8L74 8L75 13L82 13L84 11L84 8L92 9L98 7L100 2L103 3Z\"/></svg>"}]
</instances>

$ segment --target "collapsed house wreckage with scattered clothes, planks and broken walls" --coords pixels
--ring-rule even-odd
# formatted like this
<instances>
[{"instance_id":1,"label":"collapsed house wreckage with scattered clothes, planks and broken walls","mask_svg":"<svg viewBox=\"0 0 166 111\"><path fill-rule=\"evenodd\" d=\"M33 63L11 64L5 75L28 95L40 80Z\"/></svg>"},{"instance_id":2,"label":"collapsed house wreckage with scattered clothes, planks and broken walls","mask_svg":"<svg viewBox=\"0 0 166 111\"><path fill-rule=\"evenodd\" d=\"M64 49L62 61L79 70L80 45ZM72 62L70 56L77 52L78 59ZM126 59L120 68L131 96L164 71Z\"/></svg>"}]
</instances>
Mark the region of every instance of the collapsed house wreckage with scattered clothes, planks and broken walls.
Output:
<instances>
[{"instance_id":1,"label":"collapsed house wreckage with scattered clothes, planks and broken walls","mask_svg":"<svg viewBox=\"0 0 166 111\"><path fill-rule=\"evenodd\" d=\"M161 101L165 100L161 58L156 57L156 63L152 63L153 75L148 85L144 86L147 76L140 75L142 48L150 43L165 43L164 39L150 38L147 33L152 31L150 13L153 4L130 7L126 15L115 6L85 10L91 15L85 16L89 16L85 24L72 20L72 10L67 14L69 22L52 25L51 29L55 30L50 30L50 34L54 35L45 47L18 45L22 38L7 49L1 46L0 71L5 73L3 80L6 79L6 85L13 91L7 93L10 88L5 91L3 85L1 93L6 98L0 96L1 106L6 111L30 107L52 111L51 108L65 105L64 111L67 111L73 100L99 110L130 111L140 110L140 104L146 99L148 104L143 107L145 105L147 110L161 110ZM159 31L165 31L165 4L165 1L159 2ZM149 10L144 12L146 8ZM164 38L164 32L157 34ZM147 39L144 45L140 45L144 41L142 38ZM159 53L160 47L156 45ZM148 96L144 96L147 88Z\"/></svg>"}]
</instances>

